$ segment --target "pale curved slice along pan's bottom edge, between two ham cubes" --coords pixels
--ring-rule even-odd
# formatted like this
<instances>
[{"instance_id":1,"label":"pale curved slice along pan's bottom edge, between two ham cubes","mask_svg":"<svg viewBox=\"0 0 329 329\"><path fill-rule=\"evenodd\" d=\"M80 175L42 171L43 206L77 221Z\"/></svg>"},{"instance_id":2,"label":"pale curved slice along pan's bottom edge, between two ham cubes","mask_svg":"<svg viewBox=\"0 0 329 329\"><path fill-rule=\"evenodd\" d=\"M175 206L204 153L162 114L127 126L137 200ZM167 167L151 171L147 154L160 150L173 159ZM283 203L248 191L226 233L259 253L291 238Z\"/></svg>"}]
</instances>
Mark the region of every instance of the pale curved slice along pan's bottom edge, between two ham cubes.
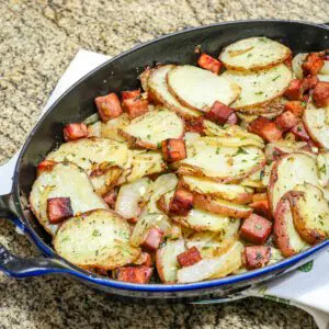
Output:
<instances>
[{"instance_id":1,"label":"pale curved slice along pan's bottom edge, between two ham cubes","mask_svg":"<svg viewBox=\"0 0 329 329\"><path fill-rule=\"evenodd\" d=\"M196 264L177 272L179 283L191 283L207 279L224 277L242 266L243 245L234 243L224 254L212 259L203 259Z\"/></svg>"}]
</instances>

